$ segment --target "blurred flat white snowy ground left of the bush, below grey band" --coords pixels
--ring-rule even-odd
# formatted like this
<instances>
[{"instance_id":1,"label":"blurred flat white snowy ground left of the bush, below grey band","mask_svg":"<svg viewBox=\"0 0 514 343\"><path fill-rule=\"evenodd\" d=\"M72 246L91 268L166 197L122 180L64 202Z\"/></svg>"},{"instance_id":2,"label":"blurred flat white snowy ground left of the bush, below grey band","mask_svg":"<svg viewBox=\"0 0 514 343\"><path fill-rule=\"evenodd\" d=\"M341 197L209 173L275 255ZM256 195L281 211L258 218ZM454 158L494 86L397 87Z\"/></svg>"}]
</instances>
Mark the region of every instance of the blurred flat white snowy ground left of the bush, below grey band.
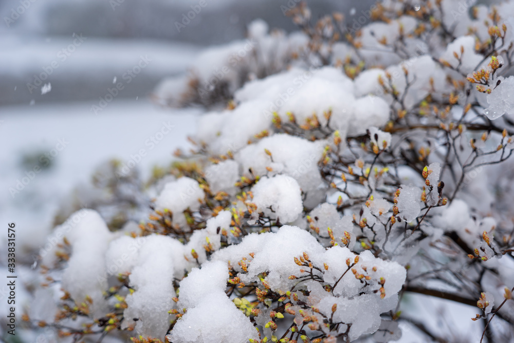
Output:
<instances>
[{"instance_id":1,"label":"blurred flat white snowy ground left of the bush, below grey band","mask_svg":"<svg viewBox=\"0 0 514 343\"><path fill-rule=\"evenodd\" d=\"M16 222L20 245L24 239L38 240L23 232L43 242L59 202L74 186L88 182L102 162L128 161L143 149L137 168L146 178L152 166L168 165L176 148L187 147L187 135L195 131L196 110L162 109L143 97L114 100L95 115L90 111L94 103L2 107L0 221ZM31 160L23 163L24 157Z\"/></svg>"}]
</instances>

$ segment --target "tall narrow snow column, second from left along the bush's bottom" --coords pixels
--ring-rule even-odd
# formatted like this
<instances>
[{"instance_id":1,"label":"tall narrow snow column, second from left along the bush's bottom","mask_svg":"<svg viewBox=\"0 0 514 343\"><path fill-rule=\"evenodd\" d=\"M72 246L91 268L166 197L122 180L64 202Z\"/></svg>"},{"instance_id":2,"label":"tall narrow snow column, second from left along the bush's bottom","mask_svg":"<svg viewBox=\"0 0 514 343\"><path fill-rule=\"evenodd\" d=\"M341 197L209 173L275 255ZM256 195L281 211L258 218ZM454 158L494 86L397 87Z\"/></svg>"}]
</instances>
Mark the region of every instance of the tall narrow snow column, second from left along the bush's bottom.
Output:
<instances>
[{"instance_id":1,"label":"tall narrow snow column, second from left along the bush's bottom","mask_svg":"<svg viewBox=\"0 0 514 343\"><path fill-rule=\"evenodd\" d=\"M161 338L170 326L168 311L175 307L173 288L174 239L152 234L144 237L136 266L129 277L135 292L126 297L128 307L123 312L125 325L136 324L143 336ZM178 243L178 242L177 242ZM180 244L180 243L179 243ZM133 322L132 318L139 318Z\"/></svg>"}]
</instances>

